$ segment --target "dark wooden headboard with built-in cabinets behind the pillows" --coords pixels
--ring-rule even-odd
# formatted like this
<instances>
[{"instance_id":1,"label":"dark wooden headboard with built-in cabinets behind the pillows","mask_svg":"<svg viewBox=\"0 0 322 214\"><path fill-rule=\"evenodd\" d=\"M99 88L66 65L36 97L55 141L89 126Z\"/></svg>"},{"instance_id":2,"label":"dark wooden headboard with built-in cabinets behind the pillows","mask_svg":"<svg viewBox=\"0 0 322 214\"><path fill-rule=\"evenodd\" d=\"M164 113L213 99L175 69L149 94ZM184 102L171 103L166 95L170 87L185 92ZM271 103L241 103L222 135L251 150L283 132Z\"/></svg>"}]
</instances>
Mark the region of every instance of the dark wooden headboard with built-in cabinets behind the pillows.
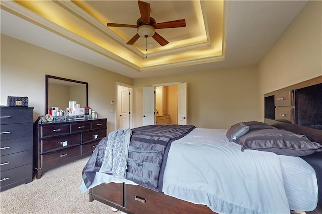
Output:
<instances>
[{"instance_id":1,"label":"dark wooden headboard with built-in cabinets behind the pillows","mask_svg":"<svg viewBox=\"0 0 322 214\"><path fill-rule=\"evenodd\" d=\"M264 94L264 122L322 144L322 76ZM322 204L322 152L301 157L315 170Z\"/></svg>"}]
</instances>

